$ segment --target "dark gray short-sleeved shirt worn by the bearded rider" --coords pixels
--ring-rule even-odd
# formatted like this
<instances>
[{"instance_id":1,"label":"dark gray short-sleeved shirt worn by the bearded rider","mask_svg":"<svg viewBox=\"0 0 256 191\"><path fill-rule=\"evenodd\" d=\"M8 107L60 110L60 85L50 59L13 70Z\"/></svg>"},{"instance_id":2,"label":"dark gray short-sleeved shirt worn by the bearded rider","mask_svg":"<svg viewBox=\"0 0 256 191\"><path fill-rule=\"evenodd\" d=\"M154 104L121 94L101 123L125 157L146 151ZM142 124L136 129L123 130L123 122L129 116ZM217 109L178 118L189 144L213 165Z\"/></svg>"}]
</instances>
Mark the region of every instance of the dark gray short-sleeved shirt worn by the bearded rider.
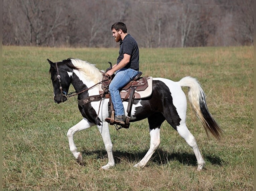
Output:
<instances>
[{"instance_id":1,"label":"dark gray short-sleeved shirt worn by the bearded rider","mask_svg":"<svg viewBox=\"0 0 256 191\"><path fill-rule=\"evenodd\" d=\"M131 56L130 62L124 68L131 68L139 71L139 47L135 39L130 34L126 35L120 42L117 64L124 58L124 54Z\"/></svg>"}]
</instances>

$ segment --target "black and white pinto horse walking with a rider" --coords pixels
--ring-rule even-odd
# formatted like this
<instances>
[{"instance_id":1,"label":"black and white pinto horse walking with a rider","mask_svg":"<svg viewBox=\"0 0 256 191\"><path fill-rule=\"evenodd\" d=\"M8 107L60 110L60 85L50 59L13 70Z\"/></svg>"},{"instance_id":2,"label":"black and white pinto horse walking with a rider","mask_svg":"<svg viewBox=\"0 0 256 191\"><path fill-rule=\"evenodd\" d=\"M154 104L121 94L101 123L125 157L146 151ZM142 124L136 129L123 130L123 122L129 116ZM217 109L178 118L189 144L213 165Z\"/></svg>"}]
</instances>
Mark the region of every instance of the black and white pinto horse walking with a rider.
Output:
<instances>
[{"instance_id":1,"label":"black and white pinto horse walking with a rider","mask_svg":"<svg viewBox=\"0 0 256 191\"><path fill-rule=\"evenodd\" d=\"M99 94L99 86L104 74L95 65L74 58L55 63L47 60L50 64L49 73L53 85L54 102L61 103L68 99L67 95L69 95L68 91L71 84L76 91L78 100ZM146 166L160 144L160 126L166 120L193 149L198 164L197 170L202 170L205 161L195 137L186 126L187 100L181 87L188 87L188 100L196 116L202 122L207 137L209 137L210 132L213 137L220 140L223 130L208 110L206 96L200 83L190 76L186 76L178 82L164 78L153 78L152 83L152 94L146 98L134 99L131 109L130 122L147 118L150 134L150 148L134 167L143 168ZM108 163L101 168L109 169L115 166L109 123L105 121L105 118L109 116L108 102L109 98L103 98L82 106L78 104L83 119L68 130L67 137L70 151L80 164L82 164L82 154L78 151L73 136L78 131L96 125L103 138L108 156ZM123 101L123 104L127 108L128 101ZM125 114L127 116L127 113Z\"/></svg>"}]
</instances>

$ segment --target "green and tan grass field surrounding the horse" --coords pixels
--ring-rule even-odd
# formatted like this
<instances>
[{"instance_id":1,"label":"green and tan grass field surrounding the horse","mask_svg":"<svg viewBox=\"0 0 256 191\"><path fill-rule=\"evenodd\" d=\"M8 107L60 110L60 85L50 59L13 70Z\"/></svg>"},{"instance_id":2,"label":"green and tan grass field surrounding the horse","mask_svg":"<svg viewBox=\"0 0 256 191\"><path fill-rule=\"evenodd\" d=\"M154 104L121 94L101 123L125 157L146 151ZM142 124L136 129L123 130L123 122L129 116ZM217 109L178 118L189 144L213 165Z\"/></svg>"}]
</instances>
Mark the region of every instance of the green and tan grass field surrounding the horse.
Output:
<instances>
[{"instance_id":1,"label":"green and tan grass field surrounding the horse","mask_svg":"<svg viewBox=\"0 0 256 191\"><path fill-rule=\"evenodd\" d=\"M82 116L76 98L53 102L46 59L80 58L102 70L117 56L118 49L3 46L3 190L253 190L253 47L140 49L144 76L201 83L225 131L220 142L207 139L188 104L187 126L206 161L202 171L166 122L147 166L134 168L149 149L146 120L119 131L110 126L116 166L107 171L100 170L107 155L97 127L75 134L85 163L79 165L66 134Z\"/></svg>"}]
</instances>

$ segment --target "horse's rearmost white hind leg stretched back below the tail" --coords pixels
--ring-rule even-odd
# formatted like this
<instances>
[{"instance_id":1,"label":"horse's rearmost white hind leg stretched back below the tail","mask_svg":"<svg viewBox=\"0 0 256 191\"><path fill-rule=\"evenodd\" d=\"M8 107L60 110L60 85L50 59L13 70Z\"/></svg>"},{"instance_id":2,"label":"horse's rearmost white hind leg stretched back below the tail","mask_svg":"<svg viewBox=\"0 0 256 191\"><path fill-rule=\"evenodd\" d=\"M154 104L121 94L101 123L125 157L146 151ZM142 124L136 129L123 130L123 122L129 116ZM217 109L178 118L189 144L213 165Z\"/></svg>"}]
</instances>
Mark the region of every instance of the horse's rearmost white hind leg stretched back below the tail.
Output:
<instances>
[{"instance_id":1,"label":"horse's rearmost white hind leg stretched back below the tail","mask_svg":"<svg viewBox=\"0 0 256 191\"><path fill-rule=\"evenodd\" d=\"M195 137L190 133L190 131L187 129L187 126L185 123L182 123L181 125L177 126L177 131L180 134L181 137L183 137L185 139L185 141L187 142L187 144L193 148L194 153L196 155L197 158L197 162L198 162L198 168L197 170L200 171L203 169L204 165L205 165L205 161L199 151L199 148L197 146L197 142Z\"/></svg>"}]
</instances>

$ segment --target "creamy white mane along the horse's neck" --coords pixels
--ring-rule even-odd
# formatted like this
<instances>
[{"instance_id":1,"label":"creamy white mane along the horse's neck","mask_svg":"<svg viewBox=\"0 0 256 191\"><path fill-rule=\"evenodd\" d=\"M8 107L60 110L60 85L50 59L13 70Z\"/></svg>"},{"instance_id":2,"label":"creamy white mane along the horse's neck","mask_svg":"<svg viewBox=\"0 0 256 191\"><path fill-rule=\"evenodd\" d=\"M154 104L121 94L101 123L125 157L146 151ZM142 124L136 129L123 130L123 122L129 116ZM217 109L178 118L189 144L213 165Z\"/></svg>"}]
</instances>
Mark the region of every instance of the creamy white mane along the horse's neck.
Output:
<instances>
[{"instance_id":1,"label":"creamy white mane along the horse's neck","mask_svg":"<svg viewBox=\"0 0 256 191\"><path fill-rule=\"evenodd\" d=\"M75 67L79 68L78 71L86 80L93 81L95 84L102 80L102 73L94 64L80 59L72 58L70 60Z\"/></svg>"}]
</instances>

